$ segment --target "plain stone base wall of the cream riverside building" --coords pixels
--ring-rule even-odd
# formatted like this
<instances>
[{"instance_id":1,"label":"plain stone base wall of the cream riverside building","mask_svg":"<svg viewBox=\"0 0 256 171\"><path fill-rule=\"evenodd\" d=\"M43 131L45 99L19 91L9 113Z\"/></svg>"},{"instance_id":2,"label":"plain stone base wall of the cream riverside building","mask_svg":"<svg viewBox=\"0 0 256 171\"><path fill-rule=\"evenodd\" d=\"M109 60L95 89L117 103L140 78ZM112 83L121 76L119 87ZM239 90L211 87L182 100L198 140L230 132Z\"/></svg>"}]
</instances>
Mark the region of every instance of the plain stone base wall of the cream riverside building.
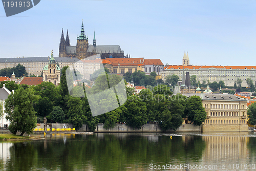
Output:
<instances>
[{"instance_id":1,"label":"plain stone base wall of the cream riverside building","mask_svg":"<svg viewBox=\"0 0 256 171\"><path fill-rule=\"evenodd\" d=\"M203 126L203 132L248 132L247 124L205 124Z\"/></svg>"}]
</instances>

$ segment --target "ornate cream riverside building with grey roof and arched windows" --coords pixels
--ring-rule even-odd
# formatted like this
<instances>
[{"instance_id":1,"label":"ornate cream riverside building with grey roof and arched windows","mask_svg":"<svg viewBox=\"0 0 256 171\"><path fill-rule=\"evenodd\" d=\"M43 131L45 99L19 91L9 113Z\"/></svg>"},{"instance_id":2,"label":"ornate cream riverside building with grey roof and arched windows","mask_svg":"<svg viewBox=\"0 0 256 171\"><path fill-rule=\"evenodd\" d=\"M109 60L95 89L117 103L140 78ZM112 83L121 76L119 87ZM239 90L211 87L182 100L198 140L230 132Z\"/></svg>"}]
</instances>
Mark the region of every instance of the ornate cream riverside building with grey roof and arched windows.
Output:
<instances>
[{"instance_id":1,"label":"ornate cream riverside building with grey roof and arched windows","mask_svg":"<svg viewBox=\"0 0 256 171\"><path fill-rule=\"evenodd\" d=\"M199 96L207 118L202 124L203 132L248 131L247 100L230 94L183 94L188 98Z\"/></svg>"}]
</instances>

